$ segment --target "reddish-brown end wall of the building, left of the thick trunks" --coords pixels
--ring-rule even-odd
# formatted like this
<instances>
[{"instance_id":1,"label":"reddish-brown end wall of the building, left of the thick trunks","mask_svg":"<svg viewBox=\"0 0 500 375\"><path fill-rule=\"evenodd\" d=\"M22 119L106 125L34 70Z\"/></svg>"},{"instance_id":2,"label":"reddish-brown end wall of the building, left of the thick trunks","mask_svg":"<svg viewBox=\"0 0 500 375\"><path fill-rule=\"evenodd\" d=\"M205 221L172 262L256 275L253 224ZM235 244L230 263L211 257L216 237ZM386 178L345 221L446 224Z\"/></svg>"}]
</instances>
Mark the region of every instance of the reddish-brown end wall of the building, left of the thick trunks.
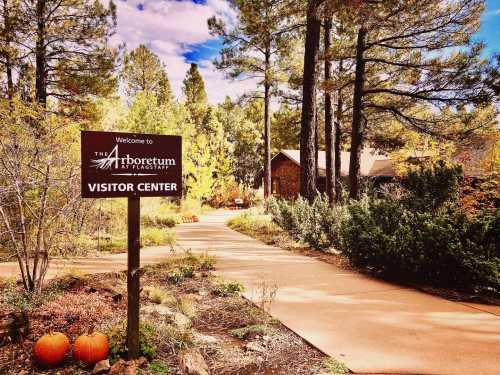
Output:
<instances>
[{"instance_id":1,"label":"reddish-brown end wall of the building, left of the thick trunks","mask_svg":"<svg viewBox=\"0 0 500 375\"><path fill-rule=\"evenodd\" d=\"M293 161L278 155L271 165L272 193L276 197L295 199L300 191L300 168Z\"/></svg>"}]
</instances>

